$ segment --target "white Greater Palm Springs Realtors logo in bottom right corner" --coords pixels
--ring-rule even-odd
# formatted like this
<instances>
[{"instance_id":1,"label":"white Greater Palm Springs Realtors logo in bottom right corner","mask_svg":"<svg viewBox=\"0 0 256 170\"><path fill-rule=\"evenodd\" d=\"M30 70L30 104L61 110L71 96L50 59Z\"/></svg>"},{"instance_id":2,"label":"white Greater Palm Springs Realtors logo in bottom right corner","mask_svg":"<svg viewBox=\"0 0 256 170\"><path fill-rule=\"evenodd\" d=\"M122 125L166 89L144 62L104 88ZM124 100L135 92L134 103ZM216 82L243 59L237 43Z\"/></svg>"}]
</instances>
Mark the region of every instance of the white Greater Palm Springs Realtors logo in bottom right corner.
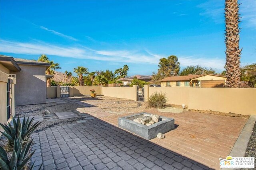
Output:
<instances>
[{"instance_id":1,"label":"white Greater Palm Springs Realtors logo in bottom right corner","mask_svg":"<svg viewBox=\"0 0 256 170\"><path fill-rule=\"evenodd\" d=\"M220 158L220 168L255 168L254 158L232 156L227 156L226 159Z\"/></svg>"}]
</instances>

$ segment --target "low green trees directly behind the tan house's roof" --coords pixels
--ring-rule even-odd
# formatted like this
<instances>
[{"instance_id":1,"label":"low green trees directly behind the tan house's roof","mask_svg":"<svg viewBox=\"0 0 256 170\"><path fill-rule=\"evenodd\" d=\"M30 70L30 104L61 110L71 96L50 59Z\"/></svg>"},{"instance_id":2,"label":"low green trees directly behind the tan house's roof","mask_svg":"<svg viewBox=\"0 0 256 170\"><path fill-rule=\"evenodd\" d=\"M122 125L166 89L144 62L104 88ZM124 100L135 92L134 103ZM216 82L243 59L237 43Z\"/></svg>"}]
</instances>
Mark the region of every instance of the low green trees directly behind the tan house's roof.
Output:
<instances>
[{"instance_id":1,"label":"low green trees directly behind the tan house's roof","mask_svg":"<svg viewBox=\"0 0 256 170\"><path fill-rule=\"evenodd\" d=\"M218 73L212 68L208 69L200 65L187 66L180 72L180 76L187 76L189 74L198 75L198 74L218 74Z\"/></svg>"}]
</instances>

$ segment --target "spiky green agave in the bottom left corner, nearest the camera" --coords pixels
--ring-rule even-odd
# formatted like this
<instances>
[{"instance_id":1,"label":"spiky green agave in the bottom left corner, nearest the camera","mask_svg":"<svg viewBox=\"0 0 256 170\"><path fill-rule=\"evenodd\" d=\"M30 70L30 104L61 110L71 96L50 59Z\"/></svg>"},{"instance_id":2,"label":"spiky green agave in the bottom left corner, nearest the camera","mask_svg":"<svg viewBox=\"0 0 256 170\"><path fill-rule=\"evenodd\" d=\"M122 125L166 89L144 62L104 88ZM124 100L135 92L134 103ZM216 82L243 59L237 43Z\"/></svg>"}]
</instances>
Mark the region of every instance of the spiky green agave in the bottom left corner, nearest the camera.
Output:
<instances>
[{"instance_id":1,"label":"spiky green agave in the bottom left corner, nearest the camera","mask_svg":"<svg viewBox=\"0 0 256 170\"><path fill-rule=\"evenodd\" d=\"M22 149L22 141L20 141L19 138L17 138L17 139L15 138L13 151L12 151L12 157L10 160L8 159L6 151L2 147L0 147L1 170L23 170L24 166L26 165L28 160L31 158L31 156L35 152L35 150L34 150L32 153L30 153L27 156L32 142L33 142L33 139L29 143L26 143L26 145ZM32 164L30 170L32 170L34 168L34 163ZM42 164L41 164L41 166L42 166Z\"/></svg>"}]
</instances>

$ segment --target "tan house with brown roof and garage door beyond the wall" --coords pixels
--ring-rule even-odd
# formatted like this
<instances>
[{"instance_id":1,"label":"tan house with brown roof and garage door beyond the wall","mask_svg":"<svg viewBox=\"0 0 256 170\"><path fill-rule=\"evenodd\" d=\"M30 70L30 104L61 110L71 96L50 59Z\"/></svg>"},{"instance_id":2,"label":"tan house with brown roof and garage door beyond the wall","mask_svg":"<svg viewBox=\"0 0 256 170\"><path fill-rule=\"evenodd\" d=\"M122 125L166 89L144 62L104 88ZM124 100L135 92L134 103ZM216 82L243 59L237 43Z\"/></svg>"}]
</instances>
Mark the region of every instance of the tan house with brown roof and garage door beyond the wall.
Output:
<instances>
[{"instance_id":1,"label":"tan house with brown roof and garage door beyond the wall","mask_svg":"<svg viewBox=\"0 0 256 170\"><path fill-rule=\"evenodd\" d=\"M162 87L192 86L192 87L225 87L226 76L215 74L200 74L188 76L171 76L160 80Z\"/></svg>"}]
</instances>

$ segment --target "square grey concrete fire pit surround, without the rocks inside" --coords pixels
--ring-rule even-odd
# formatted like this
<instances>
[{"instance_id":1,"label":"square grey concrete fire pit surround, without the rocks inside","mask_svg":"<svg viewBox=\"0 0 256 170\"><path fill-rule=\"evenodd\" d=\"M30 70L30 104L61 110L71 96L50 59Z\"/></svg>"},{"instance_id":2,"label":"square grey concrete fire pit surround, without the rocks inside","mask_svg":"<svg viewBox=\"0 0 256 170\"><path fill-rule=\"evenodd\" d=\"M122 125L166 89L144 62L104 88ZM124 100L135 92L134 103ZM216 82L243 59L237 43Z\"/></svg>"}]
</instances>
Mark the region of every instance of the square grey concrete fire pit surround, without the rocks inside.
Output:
<instances>
[{"instance_id":1,"label":"square grey concrete fire pit surround, without the rocks inside","mask_svg":"<svg viewBox=\"0 0 256 170\"><path fill-rule=\"evenodd\" d=\"M118 127L130 131L146 140L153 139L158 133L166 133L174 129L174 119L160 116L160 121L153 125L146 126L136 123L133 120L138 117L149 116L150 113L138 113L118 118Z\"/></svg>"}]
</instances>

